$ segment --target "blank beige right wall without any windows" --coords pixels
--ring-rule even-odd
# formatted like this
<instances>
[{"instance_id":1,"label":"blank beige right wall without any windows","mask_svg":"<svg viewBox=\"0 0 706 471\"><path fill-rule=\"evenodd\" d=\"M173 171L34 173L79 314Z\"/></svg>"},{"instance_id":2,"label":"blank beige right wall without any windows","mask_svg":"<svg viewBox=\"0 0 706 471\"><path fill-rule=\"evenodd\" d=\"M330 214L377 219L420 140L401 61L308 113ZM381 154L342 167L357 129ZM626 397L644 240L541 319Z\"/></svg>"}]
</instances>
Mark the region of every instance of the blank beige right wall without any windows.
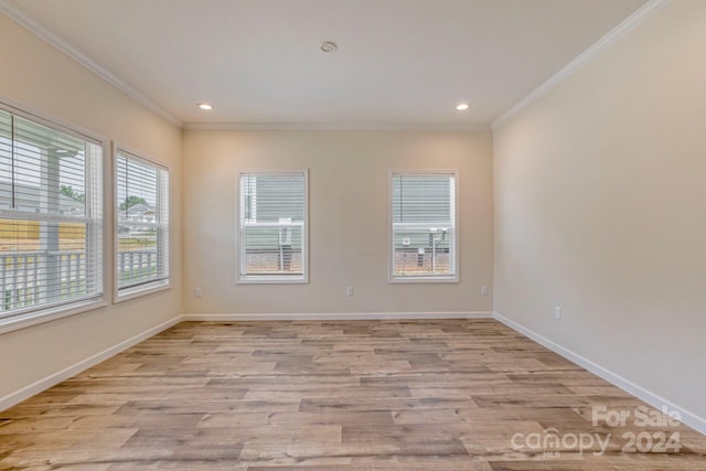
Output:
<instances>
[{"instance_id":1,"label":"blank beige right wall without any windows","mask_svg":"<svg viewBox=\"0 0 706 471\"><path fill-rule=\"evenodd\" d=\"M495 311L700 417L705 44L673 1L493 136Z\"/></svg>"}]
</instances>

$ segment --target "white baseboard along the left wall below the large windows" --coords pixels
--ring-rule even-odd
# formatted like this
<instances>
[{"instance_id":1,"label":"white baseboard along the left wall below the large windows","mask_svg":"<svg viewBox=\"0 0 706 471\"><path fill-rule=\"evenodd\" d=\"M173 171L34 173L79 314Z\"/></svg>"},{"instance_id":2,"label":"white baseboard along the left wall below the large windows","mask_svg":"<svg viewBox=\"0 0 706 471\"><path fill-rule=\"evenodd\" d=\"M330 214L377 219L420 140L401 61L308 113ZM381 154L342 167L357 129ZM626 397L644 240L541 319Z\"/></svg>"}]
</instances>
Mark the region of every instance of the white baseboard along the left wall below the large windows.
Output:
<instances>
[{"instance_id":1,"label":"white baseboard along the left wall below the large windows","mask_svg":"<svg viewBox=\"0 0 706 471\"><path fill-rule=\"evenodd\" d=\"M104 362L109 357L122 352L124 350L127 350L130 346L142 342L143 340L147 340L152 335L157 335L158 333L171 328L172 325L176 325L181 321L182 317L178 315L174 319L156 325L142 333L139 333L126 341L118 343L117 345L104 350L100 353L97 353L86 360L82 360L81 362L75 363L60 372L56 372L43 379L32 383L31 385L25 386L22 389L10 393L7 396L0 398L0 411L14 406L15 404L23 402L24 399L29 399L30 397L40 394L41 392L46 390L52 386L57 385L64 379L68 379L69 377L75 376L78 373L88 370L89 367L95 366L100 362Z\"/></svg>"}]
</instances>

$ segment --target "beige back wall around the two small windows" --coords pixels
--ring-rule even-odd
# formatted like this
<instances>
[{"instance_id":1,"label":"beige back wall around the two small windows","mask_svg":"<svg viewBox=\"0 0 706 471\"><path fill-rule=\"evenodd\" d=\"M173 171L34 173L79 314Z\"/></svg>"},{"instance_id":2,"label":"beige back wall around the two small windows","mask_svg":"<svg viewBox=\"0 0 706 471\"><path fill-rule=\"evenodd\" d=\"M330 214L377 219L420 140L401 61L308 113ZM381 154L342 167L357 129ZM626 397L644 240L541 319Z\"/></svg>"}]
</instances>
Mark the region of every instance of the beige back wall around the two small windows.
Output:
<instances>
[{"instance_id":1,"label":"beige back wall around the two small windows","mask_svg":"<svg viewBox=\"0 0 706 471\"><path fill-rule=\"evenodd\" d=\"M490 311L491 151L490 131L185 131L185 313ZM237 170L302 168L310 282L236 285ZM387 282L388 169L459 170L459 283Z\"/></svg>"}]
</instances>

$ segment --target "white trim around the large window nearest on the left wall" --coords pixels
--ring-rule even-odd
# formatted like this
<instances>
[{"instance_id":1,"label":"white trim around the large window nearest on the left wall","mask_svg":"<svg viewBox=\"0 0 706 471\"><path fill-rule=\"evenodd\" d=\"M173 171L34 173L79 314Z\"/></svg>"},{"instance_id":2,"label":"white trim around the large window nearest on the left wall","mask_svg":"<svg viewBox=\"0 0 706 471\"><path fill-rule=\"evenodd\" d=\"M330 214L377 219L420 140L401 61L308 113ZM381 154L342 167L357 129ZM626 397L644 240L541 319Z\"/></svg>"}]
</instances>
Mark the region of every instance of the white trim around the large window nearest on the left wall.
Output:
<instances>
[{"instance_id":1,"label":"white trim around the large window nearest on the left wall","mask_svg":"<svg viewBox=\"0 0 706 471\"><path fill-rule=\"evenodd\" d=\"M85 128L82 128L81 126L76 126L71 122L64 121L63 119L56 118L55 116L41 111L34 107L15 101L12 98L9 98L4 95L0 95L0 109L8 113L12 113L25 119L30 119L40 125L60 130L61 132L75 136L79 139L93 141L97 146L100 146L103 150L101 163L103 163L103 170L104 170L101 174L103 194L100 195L103 197L101 223L105 224L106 217L107 217L106 207L109 201L108 199L106 199L107 188L108 188L106 182L109 181L108 179L106 179L106 171L108 165L105 164L105 161L108 154L108 149L109 149L108 140L103 136L96 135ZM95 298L75 300L73 302L66 302L61 306L50 306L44 309L39 309L34 311L29 311L29 312L19 312L14 315L2 318L0 319L0 334L29 328L32 325L42 324L44 322L55 321L57 319L67 318L69 315L76 315L76 314L81 314L88 311L95 311L97 309L105 308L106 306L108 306L105 299L106 297L105 287L107 286L106 285L107 269L105 264L105 251L106 251L106 244L108 242L107 239L108 239L107 232L103 231L103 240L101 240L103 251L99 255L99 257L101 258L101 266L103 266L103 274L100 274L100 283L103 289L100 293L96 295Z\"/></svg>"}]
</instances>

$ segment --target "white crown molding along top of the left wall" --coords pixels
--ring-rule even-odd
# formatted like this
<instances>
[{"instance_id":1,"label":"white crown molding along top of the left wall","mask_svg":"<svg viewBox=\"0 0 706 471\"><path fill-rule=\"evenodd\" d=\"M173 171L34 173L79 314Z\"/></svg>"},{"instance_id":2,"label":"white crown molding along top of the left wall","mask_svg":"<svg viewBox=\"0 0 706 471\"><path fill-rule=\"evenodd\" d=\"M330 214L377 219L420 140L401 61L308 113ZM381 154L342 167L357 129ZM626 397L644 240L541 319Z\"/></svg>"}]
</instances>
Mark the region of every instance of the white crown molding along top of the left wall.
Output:
<instances>
[{"instance_id":1,"label":"white crown molding along top of the left wall","mask_svg":"<svg viewBox=\"0 0 706 471\"><path fill-rule=\"evenodd\" d=\"M125 81L119 78L117 75L106 69L100 64L96 63L87 55L79 52L76 47L69 44L67 41L62 39L56 33L50 31L29 15L26 15L20 8L18 8L10 0L0 0L0 13L6 14L8 18L13 20L15 23L24 26L30 32L34 33L36 36L41 38L45 42L50 43L64 54L68 55L74 61L78 62L84 67L88 68L90 72L108 82L114 87L118 88L146 108L152 110L157 115L167 119L174 126L182 127L183 122L172 115L167 109L159 106L157 103L148 98L145 94L127 84Z\"/></svg>"}]
</instances>

